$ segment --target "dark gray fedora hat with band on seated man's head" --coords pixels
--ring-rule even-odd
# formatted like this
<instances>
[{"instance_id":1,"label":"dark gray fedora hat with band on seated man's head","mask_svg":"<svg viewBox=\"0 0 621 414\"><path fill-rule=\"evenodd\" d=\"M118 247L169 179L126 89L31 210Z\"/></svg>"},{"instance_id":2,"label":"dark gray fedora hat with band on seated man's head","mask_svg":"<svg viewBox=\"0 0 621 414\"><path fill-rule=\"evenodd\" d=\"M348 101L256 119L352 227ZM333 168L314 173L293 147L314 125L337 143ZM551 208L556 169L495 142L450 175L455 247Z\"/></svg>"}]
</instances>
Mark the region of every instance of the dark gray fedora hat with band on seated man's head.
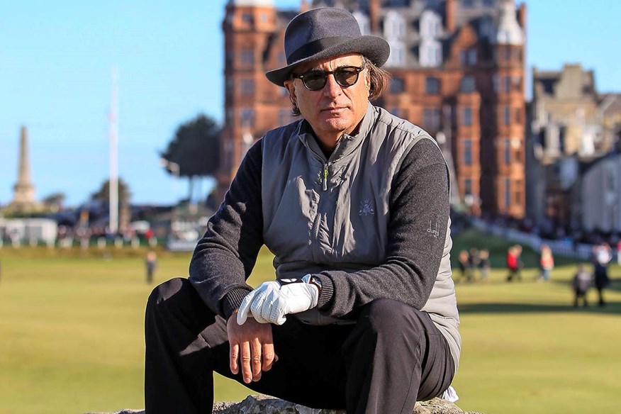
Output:
<instances>
[{"instance_id":1,"label":"dark gray fedora hat with band on seated man's head","mask_svg":"<svg viewBox=\"0 0 621 414\"><path fill-rule=\"evenodd\" d=\"M360 53L381 67L391 52L383 38L360 33L352 13L334 7L320 7L294 17L285 30L284 47L287 65L265 73L269 82L279 86L284 86L293 67L303 62Z\"/></svg>"}]
</instances>

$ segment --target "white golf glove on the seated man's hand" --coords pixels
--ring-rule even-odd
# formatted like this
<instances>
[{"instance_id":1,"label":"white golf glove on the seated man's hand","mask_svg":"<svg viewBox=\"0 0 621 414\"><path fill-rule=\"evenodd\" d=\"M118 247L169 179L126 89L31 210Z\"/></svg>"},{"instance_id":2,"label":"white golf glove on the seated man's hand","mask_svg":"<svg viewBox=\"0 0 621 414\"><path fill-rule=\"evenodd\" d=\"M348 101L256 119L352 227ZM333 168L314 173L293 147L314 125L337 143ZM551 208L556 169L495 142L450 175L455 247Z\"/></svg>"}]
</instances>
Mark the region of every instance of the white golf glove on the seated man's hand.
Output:
<instances>
[{"instance_id":1,"label":"white golf glove on the seated man's hand","mask_svg":"<svg viewBox=\"0 0 621 414\"><path fill-rule=\"evenodd\" d=\"M237 325L246 322L248 313L259 323L285 323L289 313L300 313L317 306L319 289L311 284L311 275L302 279L266 281L242 301L237 311Z\"/></svg>"}]
</instances>

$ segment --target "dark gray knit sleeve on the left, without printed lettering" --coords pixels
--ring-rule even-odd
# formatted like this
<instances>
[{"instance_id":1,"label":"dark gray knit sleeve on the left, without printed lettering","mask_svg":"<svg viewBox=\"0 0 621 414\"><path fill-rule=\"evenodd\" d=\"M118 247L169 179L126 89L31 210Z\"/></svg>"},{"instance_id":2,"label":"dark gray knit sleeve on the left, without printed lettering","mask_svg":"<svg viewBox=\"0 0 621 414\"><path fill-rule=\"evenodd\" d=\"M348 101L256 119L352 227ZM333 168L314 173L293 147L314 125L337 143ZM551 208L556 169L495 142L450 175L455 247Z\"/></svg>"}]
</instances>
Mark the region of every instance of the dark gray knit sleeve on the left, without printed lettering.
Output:
<instances>
[{"instance_id":1,"label":"dark gray knit sleeve on the left, without printed lettering","mask_svg":"<svg viewBox=\"0 0 621 414\"><path fill-rule=\"evenodd\" d=\"M261 170L259 140L242 160L190 261L189 280L207 306L225 319L252 291L246 279L263 245Z\"/></svg>"}]
</instances>

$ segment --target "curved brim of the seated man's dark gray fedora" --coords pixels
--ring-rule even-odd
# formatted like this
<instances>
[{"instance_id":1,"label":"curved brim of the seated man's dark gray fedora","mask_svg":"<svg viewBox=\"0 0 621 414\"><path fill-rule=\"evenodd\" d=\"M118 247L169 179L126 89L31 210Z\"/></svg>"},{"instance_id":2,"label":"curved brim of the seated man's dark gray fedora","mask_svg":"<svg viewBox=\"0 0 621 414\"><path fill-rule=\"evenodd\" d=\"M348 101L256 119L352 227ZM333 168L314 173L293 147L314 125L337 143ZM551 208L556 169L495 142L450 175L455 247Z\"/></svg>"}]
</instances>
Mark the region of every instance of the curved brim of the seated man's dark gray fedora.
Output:
<instances>
[{"instance_id":1,"label":"curved brim of the seated man's dark gray fedora","mask_svg":"<svg viewBox=\"0 0 621 414\"><path fill-rule=\"evenodd\" d=\"M284 82L291 77L293 68L311 60L323 60L329 57L336 57L340 55L347 55L349 53L359 53L367 59L371 60L376 67L381 67L388 60L388 56L391 53L391 47L386 40L379 36L364 35L359 38L353 38L347 42L328 47L321 52L315 53L309 57L298 60L280 69L270 70L265 72L265 76L278 86L284 86Z\"/></svg>"}]
</instances>

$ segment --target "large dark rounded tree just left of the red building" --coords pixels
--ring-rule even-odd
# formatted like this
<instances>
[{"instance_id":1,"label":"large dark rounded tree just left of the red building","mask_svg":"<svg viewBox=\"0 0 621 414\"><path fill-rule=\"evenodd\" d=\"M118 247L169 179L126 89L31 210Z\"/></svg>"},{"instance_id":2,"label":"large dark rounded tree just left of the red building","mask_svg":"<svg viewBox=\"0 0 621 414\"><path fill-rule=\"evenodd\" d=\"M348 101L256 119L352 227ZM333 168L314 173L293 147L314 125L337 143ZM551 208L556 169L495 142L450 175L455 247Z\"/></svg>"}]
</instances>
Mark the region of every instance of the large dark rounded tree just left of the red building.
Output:
<instances>
[{"instance_id":1,"label":"large dark rounded tree just left of the red building","mask_svg":"<svg viewBox=\"0 0 621 414\"><path fill-rule=\"evenodd\" d=\"M169 174L188 177L188 199L194 193L196 179L213 177L220 167L220 127L212 118L198 114L177 128L165 151L160 152L162 166Z\"/></svg>"}]
</instances>

